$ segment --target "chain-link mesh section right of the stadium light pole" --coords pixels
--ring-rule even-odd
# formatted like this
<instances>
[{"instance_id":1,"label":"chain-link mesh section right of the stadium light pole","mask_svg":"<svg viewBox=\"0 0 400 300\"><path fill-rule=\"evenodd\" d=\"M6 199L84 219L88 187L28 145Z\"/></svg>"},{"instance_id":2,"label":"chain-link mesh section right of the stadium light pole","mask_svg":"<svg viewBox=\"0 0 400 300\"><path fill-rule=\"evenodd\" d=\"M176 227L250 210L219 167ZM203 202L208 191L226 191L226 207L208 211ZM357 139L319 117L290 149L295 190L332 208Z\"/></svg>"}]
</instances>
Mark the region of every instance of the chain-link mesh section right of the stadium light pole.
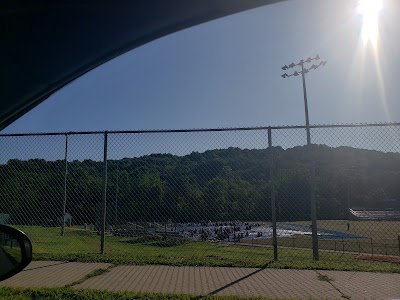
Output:
<instances>
[{"instance_id":1,"label":"chain-link mesh section right of the stadium light pole","mask_svg":"<svg viewBox=\"0 0 400 300\"><path fill-rule=\"evenodd\" d=\"M320 249L363 259L400 256L400 127L325 127L312 134L319 144Z\"/></svg>"}]
</instances>

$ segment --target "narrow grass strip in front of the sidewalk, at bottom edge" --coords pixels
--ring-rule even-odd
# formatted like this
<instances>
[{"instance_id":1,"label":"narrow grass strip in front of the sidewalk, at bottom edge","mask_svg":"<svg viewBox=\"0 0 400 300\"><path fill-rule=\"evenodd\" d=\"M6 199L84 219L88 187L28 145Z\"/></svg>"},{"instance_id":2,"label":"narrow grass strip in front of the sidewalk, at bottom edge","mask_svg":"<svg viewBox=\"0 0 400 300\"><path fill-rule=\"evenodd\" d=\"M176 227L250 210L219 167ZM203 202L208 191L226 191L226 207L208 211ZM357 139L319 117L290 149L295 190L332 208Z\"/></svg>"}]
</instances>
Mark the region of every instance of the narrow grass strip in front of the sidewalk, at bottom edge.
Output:
<instances>
[{"instance_id":1,"label":"narrow grass strip in front of the sidewalk, at bottom edge","mask_svg":"<svg viewBox=\"0 0 400 300\"><path fill-rule=\"evenodd\" d=\"M193 296L185 294L158 294L158 293L131 293L131 292L107 292L95 290L74 290L71 288L40 288L40 289L18 289L0 288L0 299L3 300L128 300L128 299L148 299L148 300L199 300L199 299L267 299L267 298L244 298L236 296Z\"/></svg>"}]
</instances>

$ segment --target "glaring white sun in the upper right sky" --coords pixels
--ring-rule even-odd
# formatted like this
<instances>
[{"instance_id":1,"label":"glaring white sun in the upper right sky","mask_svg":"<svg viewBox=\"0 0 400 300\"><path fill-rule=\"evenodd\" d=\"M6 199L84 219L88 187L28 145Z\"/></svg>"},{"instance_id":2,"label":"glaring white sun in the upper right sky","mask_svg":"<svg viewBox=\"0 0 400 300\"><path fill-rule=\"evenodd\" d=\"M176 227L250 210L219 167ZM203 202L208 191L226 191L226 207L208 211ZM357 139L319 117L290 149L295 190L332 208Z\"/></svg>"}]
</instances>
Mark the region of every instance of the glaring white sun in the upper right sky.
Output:
<instances>
[{"instance_id":1,"label":"glaring white sun in the upper right sky","mask_svg":"<svg viewBox=\"0 0 400 300\"><path fill-rule=\"evenodd\" d=\"M361 38L364 45L371 43L376 47L379 35L379 12L382 10L382 0L360 0L358 13L363 17Z\"/></svg>"}]
</instances>

